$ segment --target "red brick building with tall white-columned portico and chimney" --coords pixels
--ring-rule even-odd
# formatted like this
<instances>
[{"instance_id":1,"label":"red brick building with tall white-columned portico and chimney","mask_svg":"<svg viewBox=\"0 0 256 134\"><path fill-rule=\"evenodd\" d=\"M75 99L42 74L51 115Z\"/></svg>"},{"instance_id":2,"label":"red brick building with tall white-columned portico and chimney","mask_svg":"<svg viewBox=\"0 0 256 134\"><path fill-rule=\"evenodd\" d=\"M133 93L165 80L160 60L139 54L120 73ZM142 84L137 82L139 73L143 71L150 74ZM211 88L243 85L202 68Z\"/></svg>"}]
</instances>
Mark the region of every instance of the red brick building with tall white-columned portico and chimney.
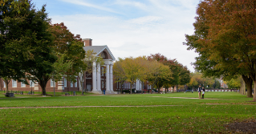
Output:
<instances>
[{"instance_id":1,"label":"red brick building with tall white-columned portico and chimney","mask_svg":"<svg viewBox=\"0 0 256 134\"><path fill-rule=\"evenodd\" d=\"M112 55L112 52L109 50L108 46L92 46L92 39L83 39L84 43L84 51L93 51L95 56L101 56L104 59L104 66L100 66L96 63L93 63L93 70L90 75L87 75L87 78L82 83L84 89L87 91L91 91L96 94L101 94L103 90L106 91L107 94L116 94L120 89L128 90L132 86L132 89L136 89L137 91L141 91L142 83L138 80L136 83L124 83L121 85L120 83L114 82L113 76L113 63L116 60ZM26 85L24 83L19 83L18 81L11 79L8 85L9 91L42 91L42 88L38 83L33 83L30 80L27 80L30 85ZM67 81L65 77L58 82L54 82L49 80L47 82L46 91L82 91L81 84L79 83L79 76L77 76L77 82L71 83ZM147 83L143 83L144 91L150 89ZM6 85L2 79L0 79L0 90L6 90Z\"/></svg>"}]
</instances>

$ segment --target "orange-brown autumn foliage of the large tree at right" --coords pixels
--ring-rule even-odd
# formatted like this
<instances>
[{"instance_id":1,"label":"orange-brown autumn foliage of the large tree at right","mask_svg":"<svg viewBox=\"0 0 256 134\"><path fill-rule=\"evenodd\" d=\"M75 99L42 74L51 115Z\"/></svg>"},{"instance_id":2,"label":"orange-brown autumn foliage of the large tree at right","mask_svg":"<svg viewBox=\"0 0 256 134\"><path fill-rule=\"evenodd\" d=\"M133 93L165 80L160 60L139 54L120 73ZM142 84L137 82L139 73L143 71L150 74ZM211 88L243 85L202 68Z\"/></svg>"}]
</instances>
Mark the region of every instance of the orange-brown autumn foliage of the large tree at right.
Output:
<instances>
[{"instance_id":1,"label":"orange-brown autumn foliage of the large tree at right","mask_svg":"<svg viewBox=\"0 0 256 134\"><path fill-rule=\"evenodd\" d=\"M201 71L250 76L256 86L255 2L204 0L197 6L195 35L186 36L186 45L200 53L197 63L203 65ZM256 95L253 100L256 101Z\"/></svg>"}]
</instances>

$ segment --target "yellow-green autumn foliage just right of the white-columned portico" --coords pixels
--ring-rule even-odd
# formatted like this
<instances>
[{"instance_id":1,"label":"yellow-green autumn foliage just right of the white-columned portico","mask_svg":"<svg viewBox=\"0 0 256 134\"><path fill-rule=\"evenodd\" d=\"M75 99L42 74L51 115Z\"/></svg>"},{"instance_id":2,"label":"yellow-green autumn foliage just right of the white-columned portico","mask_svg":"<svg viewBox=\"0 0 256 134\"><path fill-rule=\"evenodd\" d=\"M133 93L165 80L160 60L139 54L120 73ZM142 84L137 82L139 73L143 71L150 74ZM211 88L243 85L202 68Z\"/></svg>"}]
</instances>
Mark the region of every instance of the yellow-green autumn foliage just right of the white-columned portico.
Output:
<instances>
[{"instance_id":1,"label":"yellow-green autumn foliage just right of the white-columned portico","mask_svg":"<svg viewBox=\"0 0 256 134\"><path fill-rule=\"evenodd\" d=\"M140 56L119 59L114 63L113 73L116 82L125 80L133 84L140 80L154 85L159 79L169 79L172 71L156 60L148 60L145 56Z\"/></svg>"}]
</instances>

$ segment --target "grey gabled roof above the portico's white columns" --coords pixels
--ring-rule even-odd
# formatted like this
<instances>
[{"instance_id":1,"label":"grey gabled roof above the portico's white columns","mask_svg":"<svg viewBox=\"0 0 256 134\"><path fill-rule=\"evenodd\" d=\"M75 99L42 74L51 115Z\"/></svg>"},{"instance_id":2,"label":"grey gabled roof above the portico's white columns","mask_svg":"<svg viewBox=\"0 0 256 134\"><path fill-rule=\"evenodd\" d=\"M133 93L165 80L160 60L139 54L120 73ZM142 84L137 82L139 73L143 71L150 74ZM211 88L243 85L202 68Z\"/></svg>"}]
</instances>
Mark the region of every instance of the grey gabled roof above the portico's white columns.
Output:
<instances>
[{"instance_id":1,"label":"grey gabled roof above the portico's white columns","mask_svg":"<svg viewBox=\"0 0 256 134\"><path fill-rule=\"evenodd\" d=\"M94 53L96 53L96 56L99 56L100 53L102 51L104 51L105 49L108 51L108 54L110 55L110 58L112 60L116 60L114 55L112 55L112 52L109 50L107 45L105 45L105 46L88 46L88 47L83 47L84 51L93 51Z\"/></svg>"}]
</instances>

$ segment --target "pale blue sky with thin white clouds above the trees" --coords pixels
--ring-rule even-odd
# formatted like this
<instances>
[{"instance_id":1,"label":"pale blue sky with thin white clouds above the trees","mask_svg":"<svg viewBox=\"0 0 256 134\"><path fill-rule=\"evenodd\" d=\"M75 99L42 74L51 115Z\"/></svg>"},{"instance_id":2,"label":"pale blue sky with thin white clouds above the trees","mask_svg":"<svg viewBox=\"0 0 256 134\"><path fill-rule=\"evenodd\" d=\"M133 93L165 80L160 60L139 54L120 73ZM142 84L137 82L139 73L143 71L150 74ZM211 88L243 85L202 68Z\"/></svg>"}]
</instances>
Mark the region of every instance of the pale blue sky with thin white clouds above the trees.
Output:
<instances>
[{"instance_id":1,"label":"pale blue sky with thin white clouds above the trees","mask_svg":"<svg viewBox=\"0 0 256 134\"><path fill-rule=\"evenodd\" d=\"M160 53L194 71L197 53L183 45L193 35L199 0L32 0L37 9L46 4L52 23L92 46L108 45L117 59Z\"/></svg>"}]
</instances>

